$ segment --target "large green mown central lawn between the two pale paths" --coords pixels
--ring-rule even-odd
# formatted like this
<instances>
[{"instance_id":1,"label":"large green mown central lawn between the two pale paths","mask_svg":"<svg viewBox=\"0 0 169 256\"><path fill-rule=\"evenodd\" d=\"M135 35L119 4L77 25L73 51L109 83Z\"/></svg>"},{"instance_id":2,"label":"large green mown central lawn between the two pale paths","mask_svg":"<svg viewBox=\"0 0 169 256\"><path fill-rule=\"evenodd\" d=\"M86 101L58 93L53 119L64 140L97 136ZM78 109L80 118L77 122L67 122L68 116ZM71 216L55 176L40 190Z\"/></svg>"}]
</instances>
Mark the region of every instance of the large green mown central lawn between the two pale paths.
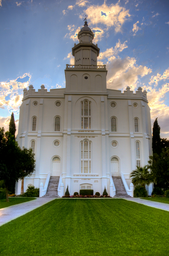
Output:
<instances>
[{"instance_id":1,"label":"large green mown central lawn between the two pale paths","mask_svg":"<svg viewBox=\"0 0 169 256\"><path fill-rule=\"evenodd\" d=\"M168 219L123 199L56 199L1 226L0 254L168 256Z\"/></svg>"}]
</instances>

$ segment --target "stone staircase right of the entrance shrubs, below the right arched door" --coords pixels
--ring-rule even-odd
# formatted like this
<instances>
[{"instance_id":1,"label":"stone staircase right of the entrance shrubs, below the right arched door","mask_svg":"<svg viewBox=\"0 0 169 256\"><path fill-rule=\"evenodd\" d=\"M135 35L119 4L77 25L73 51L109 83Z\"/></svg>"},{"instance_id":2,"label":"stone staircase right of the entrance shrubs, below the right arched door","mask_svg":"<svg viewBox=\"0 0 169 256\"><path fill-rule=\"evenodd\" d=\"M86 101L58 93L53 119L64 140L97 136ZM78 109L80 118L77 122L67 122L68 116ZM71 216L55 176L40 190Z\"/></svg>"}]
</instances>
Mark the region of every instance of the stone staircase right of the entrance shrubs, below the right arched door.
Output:
<instances>
[{"instance_id":1,"label":"stone staircase right of the entrance shrubs, below the right arched door","mask_svg":"<svg viewBox=\"0 0 169 256\"><path fill-rule=\"evenodd\" d=\"M128 195L126 192L121 177L112 176L112 179L116 190L114 198L131 198L130 195Z\"/></svg>"}]
</instances>

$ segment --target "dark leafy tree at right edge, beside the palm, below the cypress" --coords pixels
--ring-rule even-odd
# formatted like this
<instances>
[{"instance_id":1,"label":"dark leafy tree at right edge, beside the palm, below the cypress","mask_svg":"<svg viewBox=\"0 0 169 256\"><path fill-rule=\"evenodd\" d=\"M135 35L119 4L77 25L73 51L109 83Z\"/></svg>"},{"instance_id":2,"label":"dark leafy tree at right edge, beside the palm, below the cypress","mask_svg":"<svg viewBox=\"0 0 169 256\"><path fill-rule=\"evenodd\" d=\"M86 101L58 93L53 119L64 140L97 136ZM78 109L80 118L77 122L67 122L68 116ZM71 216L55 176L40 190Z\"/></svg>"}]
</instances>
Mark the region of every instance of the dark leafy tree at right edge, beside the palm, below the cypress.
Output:
<instances>
[{"instance_id":1,"label":"dark leafy tree at right edge, beside the palm, below the cypress","mask_svg":"<svg viewBox=\"0 0 169 256\"><path fill-rule=\"evenodd\" d=\"M163 148L160 155L154 153L150 156L148 164L155 185L163 190L169 189L169 148Z\"/></svg>"}]
</instances>

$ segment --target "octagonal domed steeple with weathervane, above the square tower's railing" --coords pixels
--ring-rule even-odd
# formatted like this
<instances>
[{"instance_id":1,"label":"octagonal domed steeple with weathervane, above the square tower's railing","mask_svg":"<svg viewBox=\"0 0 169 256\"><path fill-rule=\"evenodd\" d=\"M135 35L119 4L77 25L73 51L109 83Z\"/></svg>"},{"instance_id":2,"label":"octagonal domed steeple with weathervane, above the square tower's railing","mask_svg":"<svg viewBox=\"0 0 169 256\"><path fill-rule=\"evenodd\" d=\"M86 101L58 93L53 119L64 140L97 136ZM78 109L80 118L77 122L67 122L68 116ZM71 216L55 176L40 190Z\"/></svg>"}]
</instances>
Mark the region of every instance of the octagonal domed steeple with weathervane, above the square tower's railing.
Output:
<instances>
[{"instance_id":1,"label":"octagonal domed steeple with weathervane, above the square tower's railing","mask_svg":"<svg viewBox=\"0 0 169 256\"><path fill-rule=\"evenodd\" d=\"M99 56L100 49L92 42L94 33L88 27L86 19L84 27L78 32L77 37L79 44L75 44L72 48L75 65L97 65L97 56Z\"/></svg>"}]
</instances>

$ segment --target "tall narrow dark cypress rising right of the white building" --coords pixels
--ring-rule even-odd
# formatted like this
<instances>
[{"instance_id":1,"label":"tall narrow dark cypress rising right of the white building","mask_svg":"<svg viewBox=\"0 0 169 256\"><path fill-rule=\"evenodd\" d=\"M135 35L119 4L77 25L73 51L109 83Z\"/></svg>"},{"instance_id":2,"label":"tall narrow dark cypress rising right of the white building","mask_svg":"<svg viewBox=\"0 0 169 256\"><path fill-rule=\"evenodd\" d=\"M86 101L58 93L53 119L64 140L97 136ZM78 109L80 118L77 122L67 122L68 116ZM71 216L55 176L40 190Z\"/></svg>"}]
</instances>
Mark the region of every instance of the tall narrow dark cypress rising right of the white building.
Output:
<instances>
[{"instance_id":1,"label":"tall narrow dark cypress rising right of the white building","mask_svg":"<svg viewBox=\"0 0 169 256\"><path fill-rule=\"evenodd\" d=\"M156 120L154 121L154 124L153 124L152 148L153 148L153 154L157 153L158 155L160 155L162 149L161 149L160 127L158 125L157 118L156 118Z\"/></svg>"}]
</instances>

